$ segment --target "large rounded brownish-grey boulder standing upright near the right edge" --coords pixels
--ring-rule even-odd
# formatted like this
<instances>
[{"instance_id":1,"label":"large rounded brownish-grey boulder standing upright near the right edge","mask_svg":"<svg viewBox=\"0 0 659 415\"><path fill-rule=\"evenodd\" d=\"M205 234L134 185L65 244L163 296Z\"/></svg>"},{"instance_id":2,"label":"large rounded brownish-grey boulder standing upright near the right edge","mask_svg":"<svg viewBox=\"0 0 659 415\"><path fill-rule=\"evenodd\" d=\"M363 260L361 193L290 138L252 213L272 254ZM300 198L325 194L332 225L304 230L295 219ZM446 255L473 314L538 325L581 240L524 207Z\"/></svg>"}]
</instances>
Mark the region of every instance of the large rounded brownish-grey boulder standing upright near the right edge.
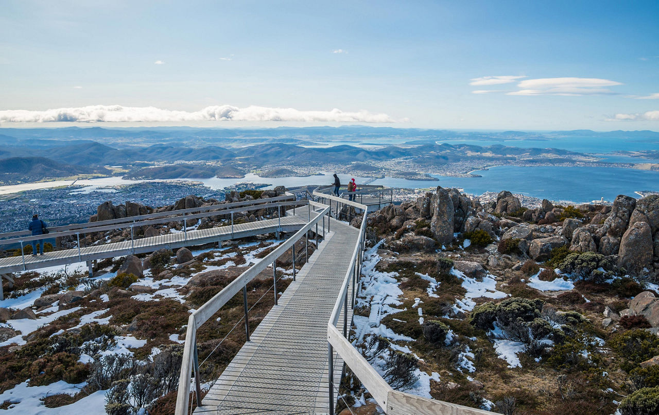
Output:
<instances>
[{"instance_id":1,"label":"large rounded brownish-grey boulder standing upright near the right edge","mask_svg":"<svg viewBox=\"0 0 659 415\"><path fill-rule=\"evenodd\" d=\"M618 265L627 272L643 273L644 269L652 269L652 233L646 222L634 223L620 240Z\"/></svg>"}]
</instances>

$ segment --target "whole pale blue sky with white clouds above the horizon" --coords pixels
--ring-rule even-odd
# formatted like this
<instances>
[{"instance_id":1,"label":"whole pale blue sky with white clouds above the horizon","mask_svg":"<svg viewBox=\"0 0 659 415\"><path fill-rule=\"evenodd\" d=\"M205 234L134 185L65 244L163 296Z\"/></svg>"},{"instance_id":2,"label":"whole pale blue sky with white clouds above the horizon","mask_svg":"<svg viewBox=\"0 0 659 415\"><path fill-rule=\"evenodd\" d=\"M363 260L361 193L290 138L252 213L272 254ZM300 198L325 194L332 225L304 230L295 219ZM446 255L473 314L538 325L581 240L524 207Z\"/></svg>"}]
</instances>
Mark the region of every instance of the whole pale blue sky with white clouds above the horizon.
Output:
<instances>
[{"instance_id":1,"label":"whole pale blue sky with white clouds above the horizon","mask_svg":"<svg viewBox=\"0 0 659 415\"><path fill-rule=\"evenodd\" d=\"M659 130L656 0L0 5L0 127Z\"/></svg>"}]
</instances>

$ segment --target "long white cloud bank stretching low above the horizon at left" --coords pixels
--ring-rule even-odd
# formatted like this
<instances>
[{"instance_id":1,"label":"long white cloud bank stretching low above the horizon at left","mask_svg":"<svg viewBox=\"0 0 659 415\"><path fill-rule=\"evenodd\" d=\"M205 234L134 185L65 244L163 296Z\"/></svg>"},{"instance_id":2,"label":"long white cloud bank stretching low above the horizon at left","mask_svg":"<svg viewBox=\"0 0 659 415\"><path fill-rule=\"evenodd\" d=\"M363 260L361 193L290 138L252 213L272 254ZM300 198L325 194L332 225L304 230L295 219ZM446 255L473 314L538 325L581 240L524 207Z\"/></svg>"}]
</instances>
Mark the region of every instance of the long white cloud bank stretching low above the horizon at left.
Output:
<instances>
[{"instance_id":1,"label":"long white cloud bank stretching low above the horizon at left","mask_svg":"<svg viewBox=\"0 0 659 415\"><path fill-rule=\"evenodd\" d=\"M296 121L337 123L399 123L383 113L361 110L346 112L300 111L295 108L214 105L200 111L173 111L156 107L123 107L122 105L89 105L56 108L45 111L10 109L0 111L0 123L163 123L167 121Z\"/></svg>"}]
</instances>

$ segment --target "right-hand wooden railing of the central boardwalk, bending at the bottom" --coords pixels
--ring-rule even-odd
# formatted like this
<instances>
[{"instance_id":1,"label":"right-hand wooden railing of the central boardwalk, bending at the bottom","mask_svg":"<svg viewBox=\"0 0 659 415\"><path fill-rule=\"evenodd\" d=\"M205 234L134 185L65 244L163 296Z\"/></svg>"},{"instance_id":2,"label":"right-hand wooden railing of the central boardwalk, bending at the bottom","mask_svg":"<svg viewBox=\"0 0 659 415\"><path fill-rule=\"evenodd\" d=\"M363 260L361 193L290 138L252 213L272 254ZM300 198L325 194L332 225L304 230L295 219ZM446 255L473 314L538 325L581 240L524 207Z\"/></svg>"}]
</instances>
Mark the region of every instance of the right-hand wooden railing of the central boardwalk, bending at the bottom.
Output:
<instances>
[{"instance_id":1,"label":"right-hand wooden railing of the central boardwalk, bending at the bottom","mask_svg":"<svg viewBox=\"0 0 659 415\"><path fill-rule=\"evenodd\" d=\"M349 200L343 200L337 196L326 196L331 201L349 204L350 206L359 205ZM470 408L452 404L450 402L438 401L436 399L426 399L396 391L393 389L380 373L371 366L371 364L358 352L357 348L349 341L352 321L348 321L348 307L355 309L355 302L359 295L359 281L362 267L362 256L364 254L364 242L366 240L366 223L368 212L366 206L355 206L364 209L364 216L359 228L359 238L350 260L350 269L345 274L339 296L334 304L331 316L328 321L328 381L329 381L329 414L334 414L336 398L334 392L339 392L338 385L334 385L334 352L343 359L347 368L357 375L360 382L366 387L366 390L378 402L380 408L386 414L436 414L436 415L485 415L492 414L485 410ZM339 329L339 317L343 309L343 329Z\"/></svg>"}]
</instances>

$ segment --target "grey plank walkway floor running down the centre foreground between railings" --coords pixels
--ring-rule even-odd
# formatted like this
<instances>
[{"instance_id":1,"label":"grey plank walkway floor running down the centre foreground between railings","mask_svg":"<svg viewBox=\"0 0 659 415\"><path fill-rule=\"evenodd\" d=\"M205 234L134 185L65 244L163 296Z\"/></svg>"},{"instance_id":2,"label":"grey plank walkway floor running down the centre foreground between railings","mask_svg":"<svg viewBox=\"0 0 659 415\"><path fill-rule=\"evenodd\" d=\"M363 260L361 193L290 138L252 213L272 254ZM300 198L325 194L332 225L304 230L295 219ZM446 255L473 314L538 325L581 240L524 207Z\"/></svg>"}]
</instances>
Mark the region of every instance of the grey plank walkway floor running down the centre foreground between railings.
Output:
<instances>
[{"instance_id":1,"label":"grey plank walkway floor running down the centre foreground between railings","mask_svg":"<svg viewBox=\"0 0 659 415\"><path fill-rule=\"evenodd\" d=\"M330 229L195 414L328 413L327 324L359 238L333 219ZM339 385L343 361L334 364Z\"/></svg>"}]
</instances>

